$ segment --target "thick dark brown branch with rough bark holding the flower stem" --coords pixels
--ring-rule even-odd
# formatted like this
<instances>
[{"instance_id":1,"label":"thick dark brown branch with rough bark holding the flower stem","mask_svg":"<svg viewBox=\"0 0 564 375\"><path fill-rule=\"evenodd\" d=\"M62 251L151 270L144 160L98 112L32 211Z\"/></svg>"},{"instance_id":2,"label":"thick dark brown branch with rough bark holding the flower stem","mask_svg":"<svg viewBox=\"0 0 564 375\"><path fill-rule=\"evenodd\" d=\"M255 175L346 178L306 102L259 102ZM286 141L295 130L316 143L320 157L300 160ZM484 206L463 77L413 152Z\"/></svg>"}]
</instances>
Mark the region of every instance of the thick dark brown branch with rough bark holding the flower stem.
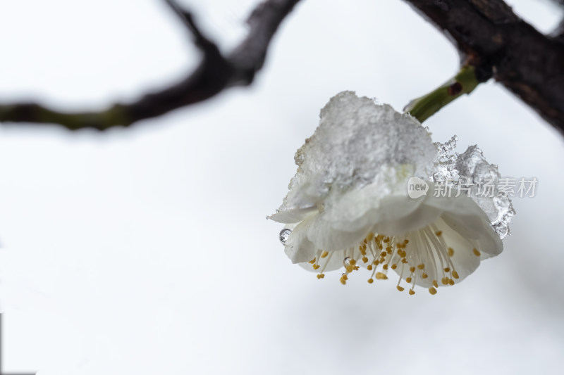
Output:
<instances>
[{"instance_id":1,"label":"thick dark brown branch with rough bark holding the flower stem","mask_svg":"<svg viewBox=\"0 0 564 375\"><path fill-rule=\"evenodd\" d=\"M494 77L564 132L564 44L502 0L405 0L455 44L462 64Z\"/></svg>"}]
</instances>

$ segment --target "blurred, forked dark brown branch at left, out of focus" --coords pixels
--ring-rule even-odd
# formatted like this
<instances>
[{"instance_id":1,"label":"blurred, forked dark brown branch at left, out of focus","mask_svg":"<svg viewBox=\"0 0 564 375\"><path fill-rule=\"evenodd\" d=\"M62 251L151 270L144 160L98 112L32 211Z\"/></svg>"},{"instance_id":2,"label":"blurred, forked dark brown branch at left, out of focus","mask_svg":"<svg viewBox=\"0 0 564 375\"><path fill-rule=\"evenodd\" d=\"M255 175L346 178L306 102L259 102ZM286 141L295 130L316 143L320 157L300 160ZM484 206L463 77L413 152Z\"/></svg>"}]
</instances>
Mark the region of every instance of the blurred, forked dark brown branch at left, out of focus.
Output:
<instances>
[{"instance_id":1,"label":"blurred, forked dark brown branch at left, out of focus","mask_svg":"<svg viewBox=\"0 0 564 375\"><path fill-rule=\"evenodd\" d=\"M200 65L184 80L162 91L147 94L134 103L118 103L102 112L59 113L37 103L0 105L0 122L55 123L71 130L104 130L118 125L129 126L204 101L228 87L249 85L264 65L266 51L278 26L300 0L266 0L259 4L247 20L247 37L226 57L202 34L191 13L173 0L165 1L190 30L196 46L203 53Z\"/></svg>"}]
</instances>

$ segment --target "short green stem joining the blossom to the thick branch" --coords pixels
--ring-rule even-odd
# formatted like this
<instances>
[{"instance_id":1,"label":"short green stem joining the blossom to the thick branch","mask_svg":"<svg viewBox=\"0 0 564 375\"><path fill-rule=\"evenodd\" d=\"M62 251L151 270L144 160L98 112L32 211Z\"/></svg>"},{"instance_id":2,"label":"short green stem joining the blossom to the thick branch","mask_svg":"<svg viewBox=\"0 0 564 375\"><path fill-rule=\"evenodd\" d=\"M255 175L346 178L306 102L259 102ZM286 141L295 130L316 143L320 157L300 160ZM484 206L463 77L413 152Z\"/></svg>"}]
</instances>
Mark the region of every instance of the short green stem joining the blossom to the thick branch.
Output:
<instances>
[{"instance_id":1,"label":"short green stem joining the blossom to the thick branch","mask_svg":"<svg viewBox=\"0 0 564 375\"><path fill-rule=\"evenodd\" d=\"M462 94L470 94L478 84L472 65L466 65L453 78L437 87L429 94L410 101L403 111L410 113L419 122L424 122L451 101Z\"/></svg>"}]
</instances>

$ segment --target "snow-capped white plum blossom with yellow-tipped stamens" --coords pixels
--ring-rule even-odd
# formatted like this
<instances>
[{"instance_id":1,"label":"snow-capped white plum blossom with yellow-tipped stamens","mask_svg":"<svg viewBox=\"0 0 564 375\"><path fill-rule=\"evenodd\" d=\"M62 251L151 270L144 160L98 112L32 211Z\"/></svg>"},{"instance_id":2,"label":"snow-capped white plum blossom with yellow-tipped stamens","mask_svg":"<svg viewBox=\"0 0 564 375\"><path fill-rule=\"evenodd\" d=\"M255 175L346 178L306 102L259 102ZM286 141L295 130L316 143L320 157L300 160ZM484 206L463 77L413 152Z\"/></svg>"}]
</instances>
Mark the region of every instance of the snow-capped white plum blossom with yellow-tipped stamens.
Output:
<instances>
[{"instance_id":1,"label":"snow-capped white plum blossom with yellow-tipped stamens","mask_svg":"<svg viewBox=\"0 0 564 375\"><path fill-rule=\"evenodd\" d=\"M434 144L415 118L351 91L331 98L295 155L288 195L269 217L286 224L280 239L290 260L318 279L344 267L342 284L361 266L371 284L392 269L399 291L405 282L410 294L415 285L435 294L501 253L514 213L508 198L433 193L441 178L499 176L475 146L451 155L454 142ZM426 181L427 193L410 198L410 177Z\"/></svg>"}]
</instances>

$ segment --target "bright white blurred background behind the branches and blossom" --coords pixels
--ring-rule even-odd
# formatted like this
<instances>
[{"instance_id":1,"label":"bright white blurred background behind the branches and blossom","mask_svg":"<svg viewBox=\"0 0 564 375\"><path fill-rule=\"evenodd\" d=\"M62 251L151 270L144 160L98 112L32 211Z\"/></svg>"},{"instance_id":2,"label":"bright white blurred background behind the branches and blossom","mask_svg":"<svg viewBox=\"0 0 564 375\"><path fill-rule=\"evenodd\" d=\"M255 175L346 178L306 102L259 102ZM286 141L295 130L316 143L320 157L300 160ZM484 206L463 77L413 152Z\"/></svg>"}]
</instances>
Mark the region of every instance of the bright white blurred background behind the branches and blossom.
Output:
<instances>
[{"instance_id":1,"label":"bright white blurred background behind the branches and blossom","mask_svg":"<svg viewBox=\"0 0 564 375\"><path fill-rule=\"evenodd\" d=\"M228 50L255 1L183 4ZM545 31L563 15L510 4ZM103 108L198 61L162 1L4 1L0 20L0 102ZM304 0L269 52L252 87L132 129L0 126L4 371L561 374L562 136L483 84L426 124L539 179L504 252L435 296L319 281L265 220L319 109L343 89L403 108L458 56L399 0Z\"/></svg>"}]
</instances>

